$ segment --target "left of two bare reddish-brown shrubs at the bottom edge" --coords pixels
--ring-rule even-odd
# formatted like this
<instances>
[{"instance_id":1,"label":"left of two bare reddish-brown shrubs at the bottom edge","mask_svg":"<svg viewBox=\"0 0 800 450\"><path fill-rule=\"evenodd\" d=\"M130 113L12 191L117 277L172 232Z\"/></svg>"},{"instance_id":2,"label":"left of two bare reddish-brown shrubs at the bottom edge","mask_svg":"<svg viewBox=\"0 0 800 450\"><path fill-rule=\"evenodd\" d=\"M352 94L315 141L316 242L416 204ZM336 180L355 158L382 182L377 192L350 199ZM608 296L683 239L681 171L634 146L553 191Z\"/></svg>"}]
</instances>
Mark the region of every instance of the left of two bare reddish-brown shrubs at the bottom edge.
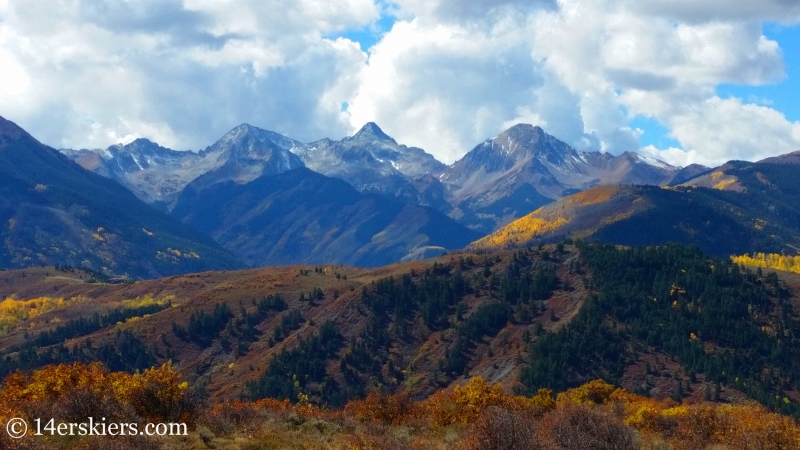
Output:
<instances>
[{"instance_id":1,"label":"left of two bare reddish-brown shrubs at the bottom edge","mask_svg":"<svg viewBox=\"0 0 800 450\"><path fill-rule=\"evenodd\" d=\"M538 424L530 412L487 408L467 430L459 450L539 450Z\"/></svg>"}]
</instances>

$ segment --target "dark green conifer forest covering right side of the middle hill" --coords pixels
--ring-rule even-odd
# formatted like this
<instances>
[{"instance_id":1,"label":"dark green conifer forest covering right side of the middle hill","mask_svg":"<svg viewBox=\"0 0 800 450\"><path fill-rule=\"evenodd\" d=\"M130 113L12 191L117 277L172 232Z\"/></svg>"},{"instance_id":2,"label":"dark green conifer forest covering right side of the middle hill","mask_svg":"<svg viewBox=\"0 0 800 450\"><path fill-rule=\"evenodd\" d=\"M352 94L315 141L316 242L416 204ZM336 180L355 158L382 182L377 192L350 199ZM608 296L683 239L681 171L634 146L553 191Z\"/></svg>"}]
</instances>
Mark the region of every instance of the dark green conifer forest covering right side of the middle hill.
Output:
<instances>
[{"instance_id":1,"label":"dark green conifer forest covering right side of the middle hill","mask_svg":"<svg viewBox=\"0 0 800 450\"><path fill-rule=\"evenodd\" d=\"M774 272L759 276L727 259L681 246L584 245L592 293L576 318L529 345L527 391L563 390L603 377L620 383L648 354L674 356L680 399L730 386L771 408L800 414L800 321ZM647 363L646 363L647 364ZM648 392L652 367L634 389Z\"/></svg>"}]
</instances>

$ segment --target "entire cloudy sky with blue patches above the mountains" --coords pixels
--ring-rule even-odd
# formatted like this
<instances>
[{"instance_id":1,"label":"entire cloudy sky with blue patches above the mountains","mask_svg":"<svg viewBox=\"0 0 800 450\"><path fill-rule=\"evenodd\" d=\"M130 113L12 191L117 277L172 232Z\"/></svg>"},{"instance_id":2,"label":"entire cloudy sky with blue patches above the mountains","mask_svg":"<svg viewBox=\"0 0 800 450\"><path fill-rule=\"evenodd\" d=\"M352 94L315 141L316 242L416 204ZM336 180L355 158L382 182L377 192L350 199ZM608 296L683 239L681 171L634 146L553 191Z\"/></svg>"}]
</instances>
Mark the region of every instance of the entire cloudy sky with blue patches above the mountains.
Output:
<instances>
[{"instance_id":1,"label":"entire cloudy sky with blue patches above the mountains","mask_svg":"<svg viewBox=\"0 0 800 450\"><path fill-rule=\"evenodd\" d=\"M516 123L719 165L800 150L799 0L0 0L0 116L56 148Z\"/></svg>"}]
</instances>

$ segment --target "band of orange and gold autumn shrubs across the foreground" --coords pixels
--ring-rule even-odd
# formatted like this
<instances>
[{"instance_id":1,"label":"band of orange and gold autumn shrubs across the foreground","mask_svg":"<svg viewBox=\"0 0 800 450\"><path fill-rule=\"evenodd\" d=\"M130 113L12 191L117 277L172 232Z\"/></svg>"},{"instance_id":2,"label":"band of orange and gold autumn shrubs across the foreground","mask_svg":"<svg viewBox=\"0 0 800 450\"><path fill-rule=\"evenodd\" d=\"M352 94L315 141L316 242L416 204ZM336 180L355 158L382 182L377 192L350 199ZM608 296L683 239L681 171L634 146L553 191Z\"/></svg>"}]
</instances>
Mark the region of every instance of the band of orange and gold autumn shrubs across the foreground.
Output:
<instances>
[{"instance_id":1,"label":"band of orange and gold autumn shrubs across the foreground","mask_svg":"<svg viewBox=\"0 0 800 450\"><path fill-rule=\"evenodd\" d=\"M275 399L224 402L196 421L187 408L189 391L169 364L138 374L110 372L99 363L47 366L6 378L0 386L0 424L43 411L58 420L102 413L114 420L180 421L204 427L205 432L198 426L195 439L209 448L215 439L230 437L227 442L242 448L304 442L310 445L305 448L427 449L444 448L445 435L452 436L447 448L459 450L800 448L797 422L762 406L656 401L602 380L557 399L548 390L532 398L509 395L474 377L426 400L414 401L405 392L372 393L343 410ZM393 429L404 431L393 435ZM174 441L179 442L186 443ZM224 442L217 448L227 448ZM0 448L7 447L0 436Z\"/></svg>"}]
</instances>

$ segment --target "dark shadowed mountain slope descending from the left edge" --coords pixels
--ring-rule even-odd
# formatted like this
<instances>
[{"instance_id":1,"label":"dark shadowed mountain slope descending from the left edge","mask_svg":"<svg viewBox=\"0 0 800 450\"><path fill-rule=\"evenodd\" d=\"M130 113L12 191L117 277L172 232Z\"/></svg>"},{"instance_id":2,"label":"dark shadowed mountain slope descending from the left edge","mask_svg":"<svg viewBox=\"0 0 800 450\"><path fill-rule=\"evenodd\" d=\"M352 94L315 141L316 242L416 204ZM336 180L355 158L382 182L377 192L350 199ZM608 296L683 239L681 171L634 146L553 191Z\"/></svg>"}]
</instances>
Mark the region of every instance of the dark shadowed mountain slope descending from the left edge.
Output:
<instances>
[{"instance_id":1,"label":"dark shadowed mountain slope descending from the left edge","mask_svg":"<svg viewBox=\"0 0 800 450\"><path fill-rule=\"evenodd\" d=\"M242 267L209 237L145 205L0 118L0 266L85 266L157 277Z\"/></svg>"}]
</instances>

